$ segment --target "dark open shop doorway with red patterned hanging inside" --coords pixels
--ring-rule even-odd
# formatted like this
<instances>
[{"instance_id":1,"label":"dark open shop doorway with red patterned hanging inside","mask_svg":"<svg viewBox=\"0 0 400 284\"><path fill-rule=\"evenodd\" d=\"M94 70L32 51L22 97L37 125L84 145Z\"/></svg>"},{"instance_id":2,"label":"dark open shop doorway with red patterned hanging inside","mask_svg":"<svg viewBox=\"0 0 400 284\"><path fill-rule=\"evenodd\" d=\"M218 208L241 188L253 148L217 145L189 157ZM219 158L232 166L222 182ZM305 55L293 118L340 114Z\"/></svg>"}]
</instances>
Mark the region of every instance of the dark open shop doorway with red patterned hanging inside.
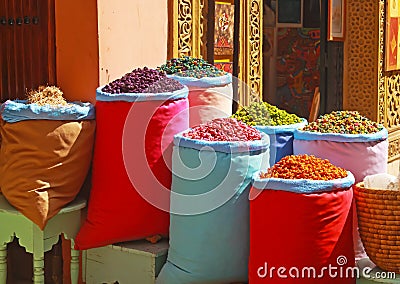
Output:
<instances>
[{"instance_id":1,"label":"dark open shop doorway with red patterned hanging inside","mask_svg":"<svg viewBox=\"0 0 400 284\"><path fill-rule=\"evenodd\" d=\"M343 107L343 42L327 41L327 1L264 0L263 99L307 118Z\"/></svg>"}]
</instances>

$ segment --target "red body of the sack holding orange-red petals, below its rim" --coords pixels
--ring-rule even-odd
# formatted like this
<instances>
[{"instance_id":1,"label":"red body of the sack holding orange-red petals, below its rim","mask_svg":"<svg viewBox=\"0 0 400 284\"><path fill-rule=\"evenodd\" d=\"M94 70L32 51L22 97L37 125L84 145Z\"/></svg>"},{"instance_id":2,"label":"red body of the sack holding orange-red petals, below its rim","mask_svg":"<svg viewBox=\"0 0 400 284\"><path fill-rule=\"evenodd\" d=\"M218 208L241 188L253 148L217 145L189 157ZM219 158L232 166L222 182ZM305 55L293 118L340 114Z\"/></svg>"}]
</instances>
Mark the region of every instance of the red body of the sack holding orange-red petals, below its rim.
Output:
<instances>
[{"instance_id":1,"label":"red body of the sack holding orange-red petals, below its rim","mask_svg":"<svg viewBox=\"0 0 400 284\"><path fill-rule=\"evenodd\" d=\"M352 198L351 188L311 194L262 190L250 201L249 283L356 283L351 271L346 277L354 266ZM336 277L322 272L329 266L337 268Z\"/></svg>"}]
</instances>

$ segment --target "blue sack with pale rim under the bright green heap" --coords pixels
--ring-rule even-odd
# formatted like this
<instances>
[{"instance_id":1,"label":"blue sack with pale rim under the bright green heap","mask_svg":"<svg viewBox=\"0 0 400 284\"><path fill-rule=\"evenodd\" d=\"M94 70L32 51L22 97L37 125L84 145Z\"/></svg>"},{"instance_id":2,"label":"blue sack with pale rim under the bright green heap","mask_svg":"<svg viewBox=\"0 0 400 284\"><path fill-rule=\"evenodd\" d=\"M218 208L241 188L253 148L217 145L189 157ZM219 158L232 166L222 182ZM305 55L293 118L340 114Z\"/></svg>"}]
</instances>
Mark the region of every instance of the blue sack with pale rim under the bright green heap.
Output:
<instances>
[{"instance_id":1,"label":"blue sack with pale rim under the bright green heap","mask_svg":"<svg viewBox=\"0 0 400 284\"><path fill-rule=\"evenodd\" d=\"M302 118L301 122L290 125L255 126L257 130L269 136L271 143L269 164L271 166L279 162L283 157L293 155L294 132L298 128L303 128L307 123L307 120Z\"/></svg>"}]
</instances>

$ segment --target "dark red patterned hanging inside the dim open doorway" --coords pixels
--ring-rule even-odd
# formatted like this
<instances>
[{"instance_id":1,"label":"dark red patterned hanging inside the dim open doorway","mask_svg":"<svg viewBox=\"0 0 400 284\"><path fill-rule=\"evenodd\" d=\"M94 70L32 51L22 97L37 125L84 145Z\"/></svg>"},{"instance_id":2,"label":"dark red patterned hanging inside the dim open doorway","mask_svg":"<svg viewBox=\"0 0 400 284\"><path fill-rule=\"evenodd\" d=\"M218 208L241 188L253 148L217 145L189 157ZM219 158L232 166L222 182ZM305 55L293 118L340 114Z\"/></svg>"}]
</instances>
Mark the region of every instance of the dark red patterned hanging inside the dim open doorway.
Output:
<instances>
[{"instance_id":1,"label":"dark red patterned hanging inside the dim open doorway","mask_svg":"<svg viewBox=\"0 0 400 284\"><path fill-rule=\"evenodd\" d=\"M308 117L315 88L320 84L320 30L278 28L276 105Z\"/></svg>"}]
</instances>

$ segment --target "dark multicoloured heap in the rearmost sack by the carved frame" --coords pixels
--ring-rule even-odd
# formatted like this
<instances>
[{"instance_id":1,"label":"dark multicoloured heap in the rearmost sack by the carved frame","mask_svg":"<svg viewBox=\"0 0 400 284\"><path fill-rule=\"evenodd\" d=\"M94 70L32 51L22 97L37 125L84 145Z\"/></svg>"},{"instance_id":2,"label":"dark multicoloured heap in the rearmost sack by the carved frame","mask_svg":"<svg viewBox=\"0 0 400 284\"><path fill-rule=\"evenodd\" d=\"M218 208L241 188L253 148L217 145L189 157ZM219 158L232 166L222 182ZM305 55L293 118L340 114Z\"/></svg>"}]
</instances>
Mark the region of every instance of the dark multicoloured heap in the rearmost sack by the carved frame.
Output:
<instances>
[{"instance_id":1,"label":"dark multicoloured heap in the rearmost sack by the carved frame","mask_svg":"<svg viewBox=\"0 0 400 284\"><path fill-rule=\"evenodd\" d=\"M172 58L167 63L161 65L159 70L167 74L199 79L204 77L219 77L227 74L204 59L191 56Z\"/></svg>"}]
</instances>

